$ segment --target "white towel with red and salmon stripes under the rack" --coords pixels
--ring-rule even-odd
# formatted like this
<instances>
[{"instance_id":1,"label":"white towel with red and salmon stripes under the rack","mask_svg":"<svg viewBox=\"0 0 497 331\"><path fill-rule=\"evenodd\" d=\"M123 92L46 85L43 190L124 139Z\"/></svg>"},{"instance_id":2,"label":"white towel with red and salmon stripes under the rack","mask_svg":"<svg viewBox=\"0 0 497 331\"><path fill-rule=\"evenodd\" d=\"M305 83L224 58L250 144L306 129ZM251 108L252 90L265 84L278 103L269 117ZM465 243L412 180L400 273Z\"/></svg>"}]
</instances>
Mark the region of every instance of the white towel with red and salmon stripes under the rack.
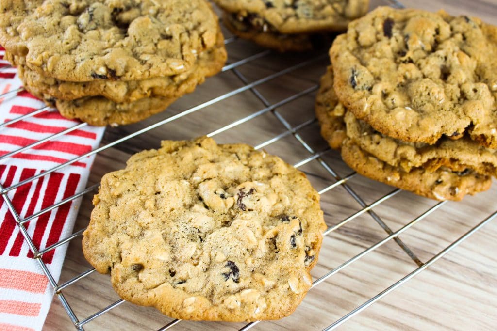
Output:
<instances>
[{"instance_id":1,"label":"white towel with red and salmon stripes under the rack","mask_svg":"<svg viewBox=\"0 0 497 331\"><path fill-rule=\"evenodd\" d=\"M3 58L3 49L0 49ZM21 86L15 68L0 60L0 94ZM0 99L0 124L44 107L22 91ZM0 158L9 152L78 125L53 109L0 128ZM96 148L104 129L84 126L49 142L0 159L0 183L8 188ZM93 156L84 158L7 193L20 219L82 191ZM42 213L24 223L38 250L72 234L81 199ZM41 330L54 291L40 265L32 259L14 215L0 198L0 331ZM58 281L67 244L48 251L43 262Z\"/></svg>"}]
</instances>

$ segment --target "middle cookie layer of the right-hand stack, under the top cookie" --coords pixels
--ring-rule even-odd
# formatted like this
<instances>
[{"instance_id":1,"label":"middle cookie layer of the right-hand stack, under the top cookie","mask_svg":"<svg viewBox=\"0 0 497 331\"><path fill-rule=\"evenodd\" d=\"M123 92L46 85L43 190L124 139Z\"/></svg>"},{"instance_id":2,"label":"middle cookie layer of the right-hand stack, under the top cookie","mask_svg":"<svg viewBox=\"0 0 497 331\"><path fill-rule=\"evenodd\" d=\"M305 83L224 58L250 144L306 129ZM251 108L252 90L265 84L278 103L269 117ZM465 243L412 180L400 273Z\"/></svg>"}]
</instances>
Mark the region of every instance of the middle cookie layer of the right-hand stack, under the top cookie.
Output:
<instances>
[{"instance_id":1,"label":"middle cookie layer of the right-hand stack, under the top cookie","mask_svg":"<svg viewBox=\"0 0 497 331\"><path fill-rule=\"evenodd\" d=\"M333 86L331 66L321 78L321 88L316 99L316 115L321 132L330 146L339 149L347 136L353 143L369 154L391 166L409 172L423 167L435 171L446 167L456 172L466 169L497 177L497 151L479 145L463 137L452 140L441 138L435 145L394 139L374 130L358 120L338 102Z\"/></svg>"}]
</instances>

